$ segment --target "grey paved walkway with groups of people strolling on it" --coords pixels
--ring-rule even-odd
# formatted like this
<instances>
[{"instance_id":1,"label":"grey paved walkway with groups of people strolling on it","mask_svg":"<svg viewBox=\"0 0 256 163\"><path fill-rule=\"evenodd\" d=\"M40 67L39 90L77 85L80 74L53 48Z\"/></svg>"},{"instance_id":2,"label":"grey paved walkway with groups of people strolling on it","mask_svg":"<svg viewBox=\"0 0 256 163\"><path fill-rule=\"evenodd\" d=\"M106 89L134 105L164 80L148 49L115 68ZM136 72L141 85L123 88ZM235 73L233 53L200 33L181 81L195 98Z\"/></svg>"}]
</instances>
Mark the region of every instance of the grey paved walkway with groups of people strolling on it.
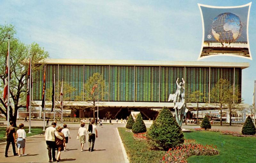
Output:
<instances>
[{"instance_id":1,"label":"grey paved walkway with groups of people strolling on it","mask_svg":"<svg viewBox=\"0 0 256 163\"><path fill-rule=\"evenodd\" d=\"M20 123L21 121L17 122ZM25 122L25 125L28 122ZM32 126L39 126L42 122L33 121ZM58 125L58 124L57 124ZM40 125L41 126L41 125ZM125 162L121 144L116 127L124 127L123 124L103 125L98 127L98 138L96 138L94 151L88 152L88 142L84 144L84 151L81 152L79 140L76 139L79 124L68 124L71 139L68 140L68 151L61 152L61 162L104 162L104 163L122 163ZM88 135L86 136L86 139ZM44 135L29 137L26 139L27 156L13 156L12 147L10 145L7 158L4 157L6 144L0 144L0 162L48 162L48 152L44 140ZM17 151L16 151L17 152ZM56 155L57 158L57 155Z\"/></svg>"}]
</instances>

